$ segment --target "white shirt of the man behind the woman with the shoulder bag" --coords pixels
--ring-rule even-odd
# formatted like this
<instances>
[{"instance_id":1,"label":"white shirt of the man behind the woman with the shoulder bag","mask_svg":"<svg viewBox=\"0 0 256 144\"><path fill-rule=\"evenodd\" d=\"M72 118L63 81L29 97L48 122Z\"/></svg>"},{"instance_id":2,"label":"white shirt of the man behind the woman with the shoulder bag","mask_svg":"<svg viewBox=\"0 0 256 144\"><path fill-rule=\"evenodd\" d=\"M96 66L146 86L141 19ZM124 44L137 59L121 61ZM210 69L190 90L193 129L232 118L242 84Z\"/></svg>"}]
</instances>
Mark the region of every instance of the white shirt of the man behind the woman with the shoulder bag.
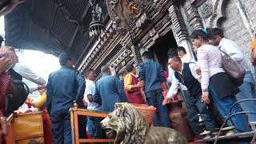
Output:
<instances>
[{"instance_id":1,"label":"white shirt of the man behind the woman with the shoulder bag","mask_svg":"<svg viewBox=\"0 0 256 144\"><path fill-rule=\"evenodd\" d=\"M230 58L244 66L246 71L250 71L240 47L235 42L231 41L230 39L222 38L218 46L221 50L228 54Z\"/></svg>"}]
</instances>

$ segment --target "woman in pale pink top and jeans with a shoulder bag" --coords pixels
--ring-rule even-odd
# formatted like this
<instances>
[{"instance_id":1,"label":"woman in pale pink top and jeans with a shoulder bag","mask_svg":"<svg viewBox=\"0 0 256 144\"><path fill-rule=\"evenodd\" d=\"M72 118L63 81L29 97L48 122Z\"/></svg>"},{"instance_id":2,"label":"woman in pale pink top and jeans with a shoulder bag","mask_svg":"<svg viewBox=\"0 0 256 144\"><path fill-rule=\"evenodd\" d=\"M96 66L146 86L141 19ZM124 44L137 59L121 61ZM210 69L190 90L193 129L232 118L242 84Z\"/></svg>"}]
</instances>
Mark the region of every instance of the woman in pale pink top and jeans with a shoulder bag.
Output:
<instances>
[{"instance_id":1,"label":"woman in pale pink top and jeans with a shoulder bag","mask_svg":"<svg viewBox=\"0 0 256 144\"><path fill-rule=\"evenodd\" d=\"M234 95L239 92L238 86L225 73L222 66L222 52L218 47L208 44L208 36L204 30L194 30L190 38L197 49L198 64L202 70L202 102L206 105L213 102L219 114L225 119L230 107L237 102ZM209 90L208 90L209 89ZM232 113L242 111L239 106L234 107ZM232 117L238 130L250 130L244 115ZM232 126L232 122L228 122Z\"/></svg>"}]
</instances>

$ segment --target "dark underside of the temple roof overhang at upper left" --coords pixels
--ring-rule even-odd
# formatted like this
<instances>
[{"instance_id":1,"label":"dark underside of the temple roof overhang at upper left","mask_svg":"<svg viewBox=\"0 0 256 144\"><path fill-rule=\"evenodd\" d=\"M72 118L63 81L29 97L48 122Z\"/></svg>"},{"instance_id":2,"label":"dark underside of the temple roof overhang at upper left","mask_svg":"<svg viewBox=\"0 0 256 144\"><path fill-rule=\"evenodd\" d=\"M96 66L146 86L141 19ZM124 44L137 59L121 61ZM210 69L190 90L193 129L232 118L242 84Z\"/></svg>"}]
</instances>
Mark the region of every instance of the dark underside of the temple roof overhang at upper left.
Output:
<instances>
[{"instance_id":1,"label":"dark underside of the temple roof overhang at upper left","mask_svg":"<svg viewBox=\"0 0 256 144\"><path fill-rule=\"evenodd\" d=\"M105 2L98 3L106 25ZM66 52L80 63L97 39L90 38L91 11L89 0L26 0L5 15L6 46L56 56Z\"/></svg>"}]
</instances>

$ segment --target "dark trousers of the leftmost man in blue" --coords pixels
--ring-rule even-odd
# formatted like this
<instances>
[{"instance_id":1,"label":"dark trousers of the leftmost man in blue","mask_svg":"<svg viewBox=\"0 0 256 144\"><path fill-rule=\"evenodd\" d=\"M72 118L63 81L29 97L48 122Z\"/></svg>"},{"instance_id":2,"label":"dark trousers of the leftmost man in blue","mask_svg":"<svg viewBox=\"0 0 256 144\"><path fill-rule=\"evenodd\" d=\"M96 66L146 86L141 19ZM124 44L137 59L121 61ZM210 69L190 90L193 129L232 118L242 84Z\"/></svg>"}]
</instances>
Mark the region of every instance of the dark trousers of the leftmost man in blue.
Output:
<instances>
[{"instance_id":1,"label":"dark trousers of the leftmost man in blue","mask_svg":"<svg viewBox=\"0 0 256 144\"><path fill-rule=\"evenodd\" d=\"M55 114L51 116L52 139L57 144L72 143L70 114Z\"/></svg>"}]
</instances>

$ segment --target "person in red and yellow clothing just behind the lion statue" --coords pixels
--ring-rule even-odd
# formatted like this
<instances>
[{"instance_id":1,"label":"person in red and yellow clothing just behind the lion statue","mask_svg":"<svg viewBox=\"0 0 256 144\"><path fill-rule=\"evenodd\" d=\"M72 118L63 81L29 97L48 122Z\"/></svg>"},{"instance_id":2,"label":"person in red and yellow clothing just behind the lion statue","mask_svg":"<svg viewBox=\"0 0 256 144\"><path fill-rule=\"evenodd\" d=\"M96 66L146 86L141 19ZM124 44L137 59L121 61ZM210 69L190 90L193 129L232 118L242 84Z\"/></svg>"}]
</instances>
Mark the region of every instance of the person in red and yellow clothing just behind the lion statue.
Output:
<instances>
[{"instance_id":1,"label":"person in red and yellow clothing just behind the lion statue","mask_svg":"<svg viewBox=\"0 0 256 144\"><path fill-rule=\"evenodd\" d=\"M142 90L142 84L136 78L136 68L132 65L126 66L128 74L124 78L125 92L128 102L130 103L145 103L145 94Z\"/></svg>"}]
</instances>

